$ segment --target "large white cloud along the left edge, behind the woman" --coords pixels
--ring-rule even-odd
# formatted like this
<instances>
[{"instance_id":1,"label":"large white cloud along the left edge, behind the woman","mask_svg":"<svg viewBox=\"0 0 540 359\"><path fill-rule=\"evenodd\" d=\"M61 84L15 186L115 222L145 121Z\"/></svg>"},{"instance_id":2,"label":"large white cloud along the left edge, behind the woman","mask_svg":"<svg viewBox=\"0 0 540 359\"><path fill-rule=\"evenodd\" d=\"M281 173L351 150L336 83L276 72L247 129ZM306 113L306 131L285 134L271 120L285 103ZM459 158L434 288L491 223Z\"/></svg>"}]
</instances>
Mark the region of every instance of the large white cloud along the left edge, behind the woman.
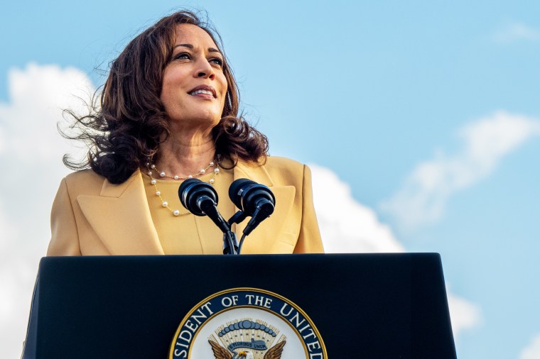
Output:
<instances>
[{"instance_id":1,"label":"large white cloud along the left edge, behind the woman","mask_svg":"<svg viewBox=\"0 0 540 359\"><path fill-rule=\"evenodd\" d=\"M62 109L80 111L94 89L75 68L31 64L11 70L9 102L0 103L0 348L18 358L39 259L50 238L49 213L62 156L77 153L60 137Z\"/></svg>"}]
</instances>

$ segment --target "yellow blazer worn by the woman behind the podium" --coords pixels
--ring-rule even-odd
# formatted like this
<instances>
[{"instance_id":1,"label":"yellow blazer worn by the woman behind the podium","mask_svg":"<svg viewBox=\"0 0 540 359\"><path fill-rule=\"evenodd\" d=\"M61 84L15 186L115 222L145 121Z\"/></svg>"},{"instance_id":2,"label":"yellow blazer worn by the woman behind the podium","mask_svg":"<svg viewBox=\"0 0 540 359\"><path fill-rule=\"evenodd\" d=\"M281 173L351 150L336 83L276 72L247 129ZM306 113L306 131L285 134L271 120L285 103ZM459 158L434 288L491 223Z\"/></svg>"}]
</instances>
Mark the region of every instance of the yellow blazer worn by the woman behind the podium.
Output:
<instances>
[{"instance_id":1,"label":"yellow blazer worn by the woman behind the podium","mask_svg":"<svg viewBox=\"0 0 540 359\"><path fill-rule=\"evenodd\" d=\"M277 157L265 165L239 161L234 167L238 178L265 184L276 197L274 214L246 238L242 253L323 253L306 165ZM122 184L111 184L92 170L68 175L60 183L50 221L47 255L163 254L140 171ZM195 221L202 231L202 253L215 253L216 238L205 233L201 217ZM246 224L237 225L238 238Z\"/></svg>"}]
</instances>

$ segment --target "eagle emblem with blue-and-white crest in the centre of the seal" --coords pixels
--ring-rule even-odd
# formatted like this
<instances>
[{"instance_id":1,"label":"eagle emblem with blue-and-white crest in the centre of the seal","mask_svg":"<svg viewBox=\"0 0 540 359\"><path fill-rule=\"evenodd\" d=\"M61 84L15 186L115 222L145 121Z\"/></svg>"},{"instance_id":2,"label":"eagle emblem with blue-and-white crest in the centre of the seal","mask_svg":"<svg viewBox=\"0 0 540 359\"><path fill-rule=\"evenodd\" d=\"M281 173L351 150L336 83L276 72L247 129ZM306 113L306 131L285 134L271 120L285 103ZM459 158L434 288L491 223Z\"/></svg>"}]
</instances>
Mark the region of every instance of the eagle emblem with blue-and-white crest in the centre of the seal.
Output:
<instances>
[{"instance_id":1,"label":"eagle emblem with blue-and-white crest in the centre of the seal","mask_svg":"<svg viewBox=\"0 0 540 359\"><path fill-rule=\"evenodd\" d=\"M227 322L215 330L208 338L215 359L281 359L286 336L280 336L279 330L264 321L240 319Z\"/></svg>"}]
</instances>

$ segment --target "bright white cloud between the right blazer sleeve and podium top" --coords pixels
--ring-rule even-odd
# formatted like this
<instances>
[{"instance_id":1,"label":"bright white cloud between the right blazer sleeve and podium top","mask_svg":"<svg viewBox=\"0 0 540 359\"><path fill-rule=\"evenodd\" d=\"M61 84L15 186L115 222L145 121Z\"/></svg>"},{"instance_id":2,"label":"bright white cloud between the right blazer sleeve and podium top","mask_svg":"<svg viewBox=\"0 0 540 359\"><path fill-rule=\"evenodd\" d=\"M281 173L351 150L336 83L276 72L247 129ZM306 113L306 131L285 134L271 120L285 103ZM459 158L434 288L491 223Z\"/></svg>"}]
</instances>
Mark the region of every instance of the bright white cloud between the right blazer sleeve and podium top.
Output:
<instances>
[{"instance_id":1,"label":"bright white cloud between the right blazer sleeve and podium top","mask_svg":"<svg viewBox=\"0 0 540 359\"><path fill-rule=\"evenodd\" d=\"M328 168L310 167L313 202L327 253L404 252L389 226L352 198L348 184Z\"/></svg>"}]
</instances>

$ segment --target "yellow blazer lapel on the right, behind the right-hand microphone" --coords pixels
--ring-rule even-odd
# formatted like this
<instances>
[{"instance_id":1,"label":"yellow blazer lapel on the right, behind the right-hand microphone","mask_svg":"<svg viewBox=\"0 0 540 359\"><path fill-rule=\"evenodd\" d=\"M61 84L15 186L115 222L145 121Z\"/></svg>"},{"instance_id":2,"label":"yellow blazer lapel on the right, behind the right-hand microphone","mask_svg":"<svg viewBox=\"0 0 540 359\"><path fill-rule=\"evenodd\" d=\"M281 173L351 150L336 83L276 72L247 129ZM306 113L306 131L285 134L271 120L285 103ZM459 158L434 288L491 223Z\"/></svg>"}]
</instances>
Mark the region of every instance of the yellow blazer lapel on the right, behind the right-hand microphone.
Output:
<instances>
[{"instance_id":1,"label":"yellow blazer lapel on the right, behind the right-hand microphone","mask_svg":"<svg viewBox=\"0 0 540 359\"><path fill-rule=\"evenodd\" d=\"M276 197L276 209L274 213L249 234L244 241L242 253L274 253L272 248L274 247L274 243L279 241L280 229L286 222L288 214L293 207L296 189L294 186L274 185L264 165L248 165L245 162L238 162L237 166L234 167L234 180L238 180L239 178L248 178L254 182L264 184L271 189L274 197ZM238 240L242 238L242 231L246 228L249 219L251 217L236 225L234 232Z\"/></svg>"}]
</instances>

